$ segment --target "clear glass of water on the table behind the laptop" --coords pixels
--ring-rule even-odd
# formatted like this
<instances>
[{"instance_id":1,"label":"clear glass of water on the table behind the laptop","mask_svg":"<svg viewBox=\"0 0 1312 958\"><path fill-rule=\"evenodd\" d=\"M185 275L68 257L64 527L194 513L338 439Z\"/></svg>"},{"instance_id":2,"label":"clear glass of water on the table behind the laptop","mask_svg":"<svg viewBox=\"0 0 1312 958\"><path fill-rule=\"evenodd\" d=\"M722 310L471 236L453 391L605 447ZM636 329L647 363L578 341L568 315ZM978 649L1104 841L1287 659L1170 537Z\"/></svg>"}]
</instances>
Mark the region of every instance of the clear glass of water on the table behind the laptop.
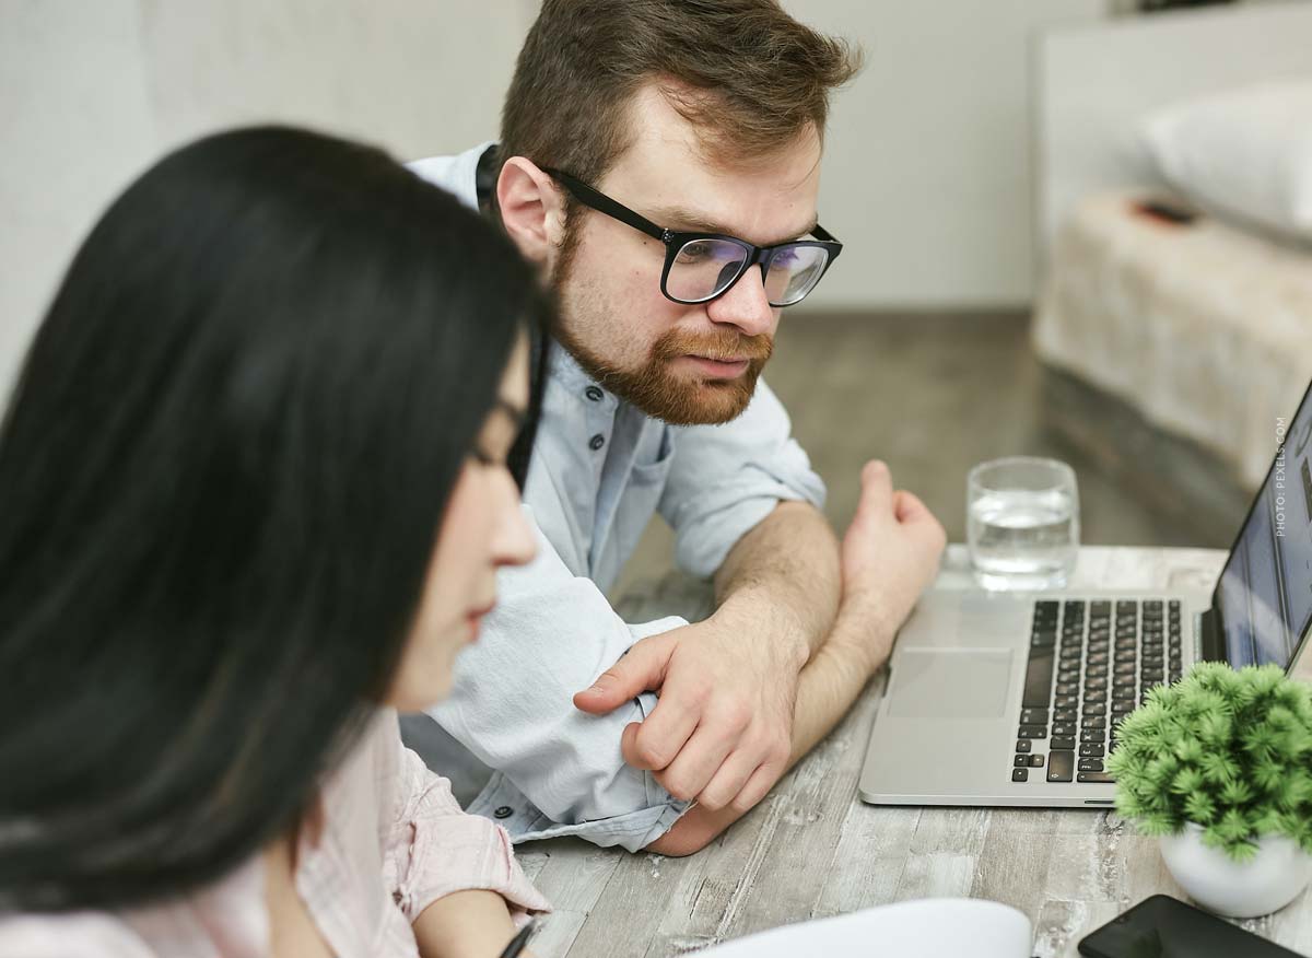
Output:
<instances>
[{"instance_id":1,"label":"clear glass of water on the table behind the laptop","mask_svg":"<svg viewBox=\"0 0 1312 958\"><path fill-rule=\"evenodd\" d=\"M1065 585L1080 550L1080 493L1064 462L1012 455L980 463L967 479L966 516L980 585Z\"/></svg>"}]
</instances>

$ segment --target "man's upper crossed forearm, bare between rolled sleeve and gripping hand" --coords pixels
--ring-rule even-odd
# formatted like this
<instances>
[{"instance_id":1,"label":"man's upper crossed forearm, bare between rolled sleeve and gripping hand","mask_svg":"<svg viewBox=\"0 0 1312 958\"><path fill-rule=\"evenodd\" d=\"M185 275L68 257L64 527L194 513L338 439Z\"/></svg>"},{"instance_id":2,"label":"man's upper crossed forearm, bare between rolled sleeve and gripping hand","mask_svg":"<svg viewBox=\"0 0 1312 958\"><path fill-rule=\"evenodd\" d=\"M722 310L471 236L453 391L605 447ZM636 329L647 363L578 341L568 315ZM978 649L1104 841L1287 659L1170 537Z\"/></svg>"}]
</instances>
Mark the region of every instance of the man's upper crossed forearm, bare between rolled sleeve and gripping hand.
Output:
<instances>
[{"instance_id":1,"label":"man's upper crossed forearm, bare between rolled sleeve and gripping hand","mask_svg":"<svg viewBox=\"0 0 1312 958\"><path fill-rule=\"evenodd\" d=\"M800 664L833 627L838 592L838 541L829 524L810 503L779 503L716 572L715 615L795 643Z\"/></svg>"}]
</instances>

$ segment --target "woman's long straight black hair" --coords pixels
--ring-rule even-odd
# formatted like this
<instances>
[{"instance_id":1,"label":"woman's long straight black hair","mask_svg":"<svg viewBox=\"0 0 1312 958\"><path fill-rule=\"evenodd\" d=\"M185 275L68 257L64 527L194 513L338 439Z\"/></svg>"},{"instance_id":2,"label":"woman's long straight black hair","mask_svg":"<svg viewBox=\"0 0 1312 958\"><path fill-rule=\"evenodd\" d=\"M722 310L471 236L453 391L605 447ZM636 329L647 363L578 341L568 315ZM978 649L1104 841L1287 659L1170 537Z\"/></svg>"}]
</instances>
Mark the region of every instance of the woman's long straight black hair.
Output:
<instances>
[{"instance_id":1,"label":"woman's long straight black hair","mask_svg":"<svg viewBox=\"0 0 1312 958\"><path fill-rule=\"evenodd\" d=\"M226 133L114 202L0 433L0 912L184 894L298 820L546 316L505 236L357 143Z\"/></svg>"}]
</instances>

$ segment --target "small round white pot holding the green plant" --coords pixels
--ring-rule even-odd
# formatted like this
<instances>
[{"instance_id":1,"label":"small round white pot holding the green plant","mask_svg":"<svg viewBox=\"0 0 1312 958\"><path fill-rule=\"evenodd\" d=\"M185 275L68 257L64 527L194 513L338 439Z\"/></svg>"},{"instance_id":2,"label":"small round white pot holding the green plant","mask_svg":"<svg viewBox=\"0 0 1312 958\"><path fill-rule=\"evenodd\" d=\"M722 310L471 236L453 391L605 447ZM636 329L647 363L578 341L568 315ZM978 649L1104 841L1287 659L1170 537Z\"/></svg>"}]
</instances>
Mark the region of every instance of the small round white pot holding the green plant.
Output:
<instances>
[{"instance_id":1,"label":"small round white pot holding the green plant","mask_svg":"<svg viewBox=\"0 0 1312 958\"><path fill-rule=\"evenodd\" d=\"M1203 829L1193 822L1179 835L1162 836L1161 857L1190 898L1233 919L1283 908L1312 878L1312 856L1283 835L1258 839L1257 854L1241 864L1204 845Z\"/></svg>"}]
</instances>

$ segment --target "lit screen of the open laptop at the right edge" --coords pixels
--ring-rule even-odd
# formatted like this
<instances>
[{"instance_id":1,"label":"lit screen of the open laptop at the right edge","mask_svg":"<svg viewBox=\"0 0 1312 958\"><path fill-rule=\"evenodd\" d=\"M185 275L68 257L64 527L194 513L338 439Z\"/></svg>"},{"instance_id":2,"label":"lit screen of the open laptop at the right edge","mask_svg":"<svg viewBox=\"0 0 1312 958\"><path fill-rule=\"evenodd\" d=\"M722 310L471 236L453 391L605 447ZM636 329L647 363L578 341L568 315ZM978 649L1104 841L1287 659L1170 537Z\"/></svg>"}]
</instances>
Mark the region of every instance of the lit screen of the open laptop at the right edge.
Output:
<instances>
[{"instance_id":1,"label":"lit screen of the open laptop at the right edge","mask_svg":"<svg viewBox=\"0 0 1312 958\"><path fill-rule=\"evenodd\" d=\"M1212 598L1235 668L1288 668L1312 625L1312 388L1273 427L1275 462Z\"/></svg>"}]
</instances>

